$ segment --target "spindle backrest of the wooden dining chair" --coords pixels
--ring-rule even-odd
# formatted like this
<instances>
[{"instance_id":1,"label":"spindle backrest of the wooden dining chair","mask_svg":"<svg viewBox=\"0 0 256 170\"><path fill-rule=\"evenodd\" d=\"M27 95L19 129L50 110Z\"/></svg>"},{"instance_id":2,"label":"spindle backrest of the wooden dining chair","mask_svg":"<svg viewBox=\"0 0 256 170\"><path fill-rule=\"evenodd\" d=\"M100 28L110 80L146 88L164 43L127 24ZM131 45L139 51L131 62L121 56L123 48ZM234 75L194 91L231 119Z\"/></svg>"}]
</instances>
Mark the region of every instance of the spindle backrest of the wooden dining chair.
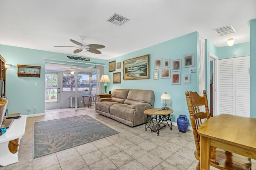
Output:
<instances>
[{"instance_id":1,"label":"spindle backrest of the wooden dining chair","mask_svg":"<svg viewBox=\"0 0 256 170\"><path fill-rule=\"evenodd\" d=\"M197 133L197 129L202 124L202 119L210 118L206 91L203 91L204 96L199 96L197 92L188 91L186 91L185 94L188 104L190 121L193 128L196 149L200 150L200 135ZM205 107L205 112L200 111L200 109L202 110L203 107Z\"/></svg>"}]
</instances>

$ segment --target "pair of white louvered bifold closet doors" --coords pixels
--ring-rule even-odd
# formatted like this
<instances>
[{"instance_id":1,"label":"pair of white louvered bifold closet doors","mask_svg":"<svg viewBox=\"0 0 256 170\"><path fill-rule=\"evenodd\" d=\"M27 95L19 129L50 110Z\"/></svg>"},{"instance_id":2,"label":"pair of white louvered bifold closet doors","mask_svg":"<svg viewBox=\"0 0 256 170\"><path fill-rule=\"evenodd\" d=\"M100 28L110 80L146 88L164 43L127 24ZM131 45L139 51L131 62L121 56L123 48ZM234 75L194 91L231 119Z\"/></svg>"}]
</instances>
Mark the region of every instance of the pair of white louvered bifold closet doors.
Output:
<instances>
[{"instance_id":1,"label":"pair of white louvered bifold closet doors","mask_svg":"<svg viewBox=\"0 0 256 170\"><path fill-rule=\"evenodd\" d=\"M219 60L219 114L250 117L250 57Z\"/></svg>"}]
</instances>

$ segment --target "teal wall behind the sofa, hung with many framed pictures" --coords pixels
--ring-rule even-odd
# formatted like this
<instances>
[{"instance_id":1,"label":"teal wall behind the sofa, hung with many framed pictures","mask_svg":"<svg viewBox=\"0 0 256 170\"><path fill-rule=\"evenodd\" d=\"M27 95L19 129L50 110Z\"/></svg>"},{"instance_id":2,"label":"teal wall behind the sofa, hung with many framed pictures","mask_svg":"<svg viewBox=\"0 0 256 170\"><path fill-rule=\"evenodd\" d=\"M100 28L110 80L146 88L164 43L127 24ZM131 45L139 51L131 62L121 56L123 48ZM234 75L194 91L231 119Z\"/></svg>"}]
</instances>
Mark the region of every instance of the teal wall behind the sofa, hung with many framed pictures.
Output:
<instances>
[{"instance_id":1,"label":"teal wall behind the sofa, hung with many framed pictures","mask_svg":"<svg viewBox=\"0 0 256 170\"><path fill-rule=\"evenodd\" d=\"M197 48L198 48L198 33L190 33L176 39L165 41L157 45L153 45L126 55L122 55L115 59L111 59L108 62L116 61L123 62L127 59L132 59L135 57L140 57L143 55L150 55L150 79L142 80L121 80L121 84L113 83L113 73L109 72L111 82L108 83L108 91L113 91L114 89L145 89L153 90L155 93L154 107L163 107L164 104L160 102L160 97L164 92L167 92L171 96L171 104L168 107L174 110L174 117L172 121L176 122L176 119L180 114L187 115L189 118L188 107L186 104L185 91L198 91L198 72L190 73L190 68L183 68L183 55L188 55L194 53L194 67L197 67ZM164 68L164 60L170 59L170 68L172 68L172 60L181 60L181 71L180 71L180 83L179 85L174 85L171 82L171 78L161 79L161 69L154 69L154 61L156 59L162 59L162 69ZM108 64L106 64L106 70L108 70ZM158 80L153 79L153 72L158 71ZM123 63L121 69L116 69L115 72L121 72L123 75ZM172 71L170 72L172 73ZM190 84L182 84L182 74L190 74Z\"/></svg>"}]
</instances>

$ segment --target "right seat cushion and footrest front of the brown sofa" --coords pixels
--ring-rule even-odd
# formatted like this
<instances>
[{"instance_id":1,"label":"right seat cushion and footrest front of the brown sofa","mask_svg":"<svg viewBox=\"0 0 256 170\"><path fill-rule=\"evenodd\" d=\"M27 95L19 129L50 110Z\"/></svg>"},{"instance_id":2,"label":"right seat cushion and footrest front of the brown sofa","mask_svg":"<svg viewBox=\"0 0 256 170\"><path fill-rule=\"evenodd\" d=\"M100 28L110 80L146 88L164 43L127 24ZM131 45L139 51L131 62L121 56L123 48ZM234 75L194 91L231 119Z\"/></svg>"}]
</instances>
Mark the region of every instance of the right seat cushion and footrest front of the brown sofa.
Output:
<instances>
[{"instance_id":1,"label":"right seat cushion and footrest front of the brown sofa","mask_svg":"<svg viewBox=\"0 0 256 170\"><path fill-rule=\"evenodd\" d=\"M115 115L128 121L133 121L133 113L136 109L132 109L131 105L128 104L114 104L110 106L109 110L111 115Z\"/></svg>"}]
</instances>

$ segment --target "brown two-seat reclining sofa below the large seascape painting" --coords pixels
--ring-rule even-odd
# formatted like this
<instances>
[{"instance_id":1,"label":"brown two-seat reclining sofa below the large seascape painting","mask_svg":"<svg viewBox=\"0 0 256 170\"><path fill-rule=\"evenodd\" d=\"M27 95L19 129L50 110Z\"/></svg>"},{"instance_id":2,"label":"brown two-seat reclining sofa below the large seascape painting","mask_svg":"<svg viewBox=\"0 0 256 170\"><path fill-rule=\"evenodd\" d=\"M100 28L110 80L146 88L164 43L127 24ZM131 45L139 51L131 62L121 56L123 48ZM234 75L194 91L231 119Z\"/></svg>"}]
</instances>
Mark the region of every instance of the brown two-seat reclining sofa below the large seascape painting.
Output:
<instances>
[{"instance_id":1,"label":"brown two-seat reclining sofa below the large seascape painting","mask_svg":"<svg viewBox=\"0 0 256 170\"><path fill-rule=\"evenodd\" d=\"M111 98L96 102L95 111L133 127L146 122L143 111L153 107L154 99L152 90L115 89Z\"/></svg>"}]
</instances>

